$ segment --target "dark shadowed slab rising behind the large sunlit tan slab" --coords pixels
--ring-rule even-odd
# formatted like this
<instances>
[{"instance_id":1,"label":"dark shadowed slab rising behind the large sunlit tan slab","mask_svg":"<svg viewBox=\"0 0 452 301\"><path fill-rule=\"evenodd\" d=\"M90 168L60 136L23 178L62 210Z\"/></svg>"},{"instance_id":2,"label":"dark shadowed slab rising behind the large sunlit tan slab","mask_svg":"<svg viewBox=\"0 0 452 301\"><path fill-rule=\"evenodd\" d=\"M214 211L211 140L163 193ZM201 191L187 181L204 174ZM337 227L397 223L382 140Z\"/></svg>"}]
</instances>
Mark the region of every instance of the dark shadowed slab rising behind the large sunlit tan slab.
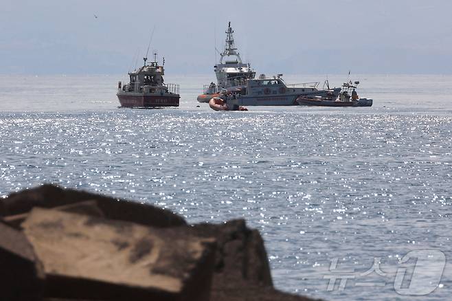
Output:
<instances>
[{"instance_id":1,"label":"dark shadowed slab rising behind the large sunlit tan slab","mask_svg":"<svg viewBox=\"0 0 452 301\"><path fill-rule=\"evenodd\" d=\"M108 219L131 221L152 227L186 225L181 216L169 210L81 190L62 189L53 185L43 185L10 194L0 202L0 216L23 214L34 207L54 208L88 200L96 200L98 207Z\"/></svg>"}]
</instances>

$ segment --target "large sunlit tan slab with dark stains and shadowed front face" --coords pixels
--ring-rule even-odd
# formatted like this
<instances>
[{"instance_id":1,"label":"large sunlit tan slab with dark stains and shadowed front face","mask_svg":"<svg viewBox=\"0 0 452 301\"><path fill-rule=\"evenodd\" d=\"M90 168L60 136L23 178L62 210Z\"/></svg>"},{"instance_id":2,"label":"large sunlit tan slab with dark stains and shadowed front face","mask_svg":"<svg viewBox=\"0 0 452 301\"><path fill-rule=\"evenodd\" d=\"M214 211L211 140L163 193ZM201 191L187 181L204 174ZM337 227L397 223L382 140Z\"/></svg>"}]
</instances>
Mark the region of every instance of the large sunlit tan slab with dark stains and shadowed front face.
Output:
<instances>
[{"instance_id":1,"label":"large sunlit tan slab with dark stains and shadowed front face","mask_svg":"<svg viewBox=\"0 0 452 301\"><path fill-rule=\"evenodd\" d=\"M47 297L209 300L212 238L42 208L22 227L43 264Z\"/></svg>"}]
</instances>

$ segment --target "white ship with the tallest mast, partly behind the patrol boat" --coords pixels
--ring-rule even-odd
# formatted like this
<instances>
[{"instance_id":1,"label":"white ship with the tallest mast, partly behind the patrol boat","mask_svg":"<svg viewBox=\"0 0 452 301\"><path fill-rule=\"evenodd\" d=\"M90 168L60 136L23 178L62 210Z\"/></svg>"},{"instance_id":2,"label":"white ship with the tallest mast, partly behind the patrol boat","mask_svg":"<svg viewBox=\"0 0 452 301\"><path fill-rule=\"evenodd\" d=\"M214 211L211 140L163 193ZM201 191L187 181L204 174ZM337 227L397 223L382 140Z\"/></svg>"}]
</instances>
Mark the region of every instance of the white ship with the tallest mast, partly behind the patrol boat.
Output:
<instances>
[{"instance_id":1,"label":"white ship with the tallest mast, partly behind the patrol boat","mask_svg":"<svg viewBox=\"0 0 452 301\"><path fill-rule=\"evenodd\" d=\"M248 79L256 76L256 71L249 63L243 63L242 58L234 43L234 30L231 22L226 30L225 49L220 53L220 63L214 65L217 82L205 85L203 93L198 96L199 102L209 102L210 99L219 95L222 90L231 90L246 85Z\"/></svg>"}]
</instances>

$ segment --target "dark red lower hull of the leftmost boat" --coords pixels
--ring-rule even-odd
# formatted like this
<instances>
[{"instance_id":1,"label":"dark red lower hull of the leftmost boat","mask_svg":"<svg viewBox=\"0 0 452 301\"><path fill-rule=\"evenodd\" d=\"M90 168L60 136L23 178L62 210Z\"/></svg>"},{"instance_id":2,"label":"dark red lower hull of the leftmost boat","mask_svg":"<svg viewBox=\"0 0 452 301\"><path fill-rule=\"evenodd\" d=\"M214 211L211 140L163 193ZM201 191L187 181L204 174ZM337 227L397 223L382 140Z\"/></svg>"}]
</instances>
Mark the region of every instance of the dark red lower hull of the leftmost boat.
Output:
<instances>
[{"instance_id":1,"label":"dark red lower hull of the leftmost boat","mask_svg":"<svg viewBox=\"0 0 452 301\"><path fill-rule=\"evenodd\" d=\"M131 96L118 95L121 107L179 107L179 96Z\"/></svg>"}]
</instances>

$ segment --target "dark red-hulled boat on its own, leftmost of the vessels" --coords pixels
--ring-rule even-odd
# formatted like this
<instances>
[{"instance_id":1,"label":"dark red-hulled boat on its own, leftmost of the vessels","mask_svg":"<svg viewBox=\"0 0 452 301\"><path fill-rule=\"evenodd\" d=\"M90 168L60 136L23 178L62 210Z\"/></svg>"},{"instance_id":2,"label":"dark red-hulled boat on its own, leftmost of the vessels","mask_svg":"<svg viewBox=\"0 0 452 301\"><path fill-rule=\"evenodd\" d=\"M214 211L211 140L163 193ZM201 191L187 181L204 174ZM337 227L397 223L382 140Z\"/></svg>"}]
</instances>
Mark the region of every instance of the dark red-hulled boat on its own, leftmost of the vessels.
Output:
<instances>
[{"instance_id":1,"label":"dark red-hulled boat on its own, leftmost of the vessels","mask_svg":"<svg viewBox=\"0 0 452 301\"><path fill-rule=\"evenodd\" d=\"M163 82L165 58L162 65L157 62L157 54L154 54L154 60L150 63L146 64L147 57L143 60L142 67L128 73L128 84L118 82L116 95L121 107L179 107L179 85Z\"/></svg>"}]
</instances>

